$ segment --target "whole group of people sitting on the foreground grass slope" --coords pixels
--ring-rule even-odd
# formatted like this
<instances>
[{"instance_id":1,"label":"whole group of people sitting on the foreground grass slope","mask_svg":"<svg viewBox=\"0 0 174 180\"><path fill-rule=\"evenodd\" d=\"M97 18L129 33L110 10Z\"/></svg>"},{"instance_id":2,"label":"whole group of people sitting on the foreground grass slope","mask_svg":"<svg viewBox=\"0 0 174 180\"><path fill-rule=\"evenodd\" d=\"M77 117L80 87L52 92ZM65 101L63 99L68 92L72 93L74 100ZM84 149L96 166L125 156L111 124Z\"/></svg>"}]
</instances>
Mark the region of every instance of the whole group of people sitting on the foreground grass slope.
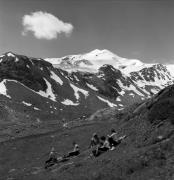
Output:
<instances>
[{"instance_id":1,"label":"whole group of people sitting on the foreground grass slope","mask_svg":"<svg viewBox=\"0 0 174 180\"><path fill-rule=\"evenodd\" d=\"M89 148L92 149L92 155L94 157L99 156L103 152L106 152L108 150L114 150L115 147L120 143L120 138L118 138L117 133L114 129L111 129L111 134L105 136L99 136L94 133ZM52 147L50 154L49 154L49 159L46 161L46 164L48 163L57 163L66 161L68 158L73 157L73 156L78 156L80 154L80 148L79 145L76 142L73 142L73 150L69 152L67 155L64 155L63 157L57 158L57 153Z\"/></svg>"}]
</instances>

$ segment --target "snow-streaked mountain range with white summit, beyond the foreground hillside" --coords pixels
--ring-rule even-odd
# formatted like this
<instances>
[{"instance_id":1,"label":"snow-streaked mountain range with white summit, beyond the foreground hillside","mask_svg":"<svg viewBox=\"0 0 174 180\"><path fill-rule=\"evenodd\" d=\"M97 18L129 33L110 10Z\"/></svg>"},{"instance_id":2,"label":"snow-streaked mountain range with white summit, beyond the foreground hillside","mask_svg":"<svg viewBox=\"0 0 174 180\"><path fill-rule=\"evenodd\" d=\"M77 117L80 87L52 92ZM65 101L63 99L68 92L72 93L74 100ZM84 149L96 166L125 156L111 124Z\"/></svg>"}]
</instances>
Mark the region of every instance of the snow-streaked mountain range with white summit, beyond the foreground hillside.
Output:
<instances>
[{"instance_id":1,"label":"snow-streaked mountain range with white summit, beyond the foreground hillside","mask_svg":"<svg viewBox=\"0 0 174 180\"><path fill-rule=\"evenodd\" d=\"M71 119L108 106L121 110L174 82L165 65L147 65L106 49L47 61L53 65L12 52L0 56L0 96L46 111L45 117Z\"/></svg>"}]
</instances>

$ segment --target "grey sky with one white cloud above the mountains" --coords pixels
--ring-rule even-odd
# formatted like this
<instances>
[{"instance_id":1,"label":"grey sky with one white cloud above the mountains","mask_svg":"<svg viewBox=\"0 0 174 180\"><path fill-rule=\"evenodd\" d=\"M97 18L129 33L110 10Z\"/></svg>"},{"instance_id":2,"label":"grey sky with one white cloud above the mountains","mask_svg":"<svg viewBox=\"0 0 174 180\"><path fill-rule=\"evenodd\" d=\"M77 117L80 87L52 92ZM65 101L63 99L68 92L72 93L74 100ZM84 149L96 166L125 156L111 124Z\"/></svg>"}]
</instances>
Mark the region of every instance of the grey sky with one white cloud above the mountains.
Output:
<instances>
[{"instance_id":1,"label":"grey sky with one white cloud above the mountains","mask_svg":"<svg viewBox=\"0 0 174 180\"><path fill-rule=\"evenodd\" d=\"M0 0L0 54L45 58L94 49L174 63L174 1Z\"/></svg>"}]
</instances>

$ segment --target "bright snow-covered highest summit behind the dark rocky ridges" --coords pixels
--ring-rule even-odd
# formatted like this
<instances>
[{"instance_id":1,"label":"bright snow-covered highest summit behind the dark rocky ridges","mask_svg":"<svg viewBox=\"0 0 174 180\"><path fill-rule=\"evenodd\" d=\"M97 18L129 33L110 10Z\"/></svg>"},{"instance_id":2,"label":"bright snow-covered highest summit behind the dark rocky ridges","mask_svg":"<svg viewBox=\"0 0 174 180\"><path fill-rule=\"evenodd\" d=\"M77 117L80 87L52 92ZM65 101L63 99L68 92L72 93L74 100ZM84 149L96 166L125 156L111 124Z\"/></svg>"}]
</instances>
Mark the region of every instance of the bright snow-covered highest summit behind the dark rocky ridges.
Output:
<instances>
[{"instance_id":1,"label":"bright snow-covered highest summit behind the dark rocky ridges","mask_svg":"<svg viewBox=\"0 0 174 180\"><path fill-rule=\"evenodd\" d=\"M107 49L95 49L89 53L79 55L69 55L62 58L47 58L46 61L68 71L87 71L97 72L105 64L112 65L114 68L122 69L129 73L132 67L139 68L144 65L137 59L122 58Z\"/></svg>"}]
</instances>

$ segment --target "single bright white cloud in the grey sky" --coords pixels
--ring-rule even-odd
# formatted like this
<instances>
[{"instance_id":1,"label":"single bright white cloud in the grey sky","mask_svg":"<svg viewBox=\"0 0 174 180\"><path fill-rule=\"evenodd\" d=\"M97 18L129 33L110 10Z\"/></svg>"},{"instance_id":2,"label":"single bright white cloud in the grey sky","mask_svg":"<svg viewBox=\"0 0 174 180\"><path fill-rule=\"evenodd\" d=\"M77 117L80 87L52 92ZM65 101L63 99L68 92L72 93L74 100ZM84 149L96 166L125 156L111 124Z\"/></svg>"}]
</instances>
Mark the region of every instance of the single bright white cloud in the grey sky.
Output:
<instances>
[{"instance_id":1,"label":"single bright white cloud in the grey sky","mask_svg":"<svg viewBox=\"0 0 174 180\"><path fill-rule=\"evenodd\" d=\"M65 23L47 12L33 12L30 15L24 15L22 18L24 30L22 35L27 35L29 31L33 32L38 39L56 39L58 34L69 35L73 30L73 25Z\"/></svg>"}]
</instances>

